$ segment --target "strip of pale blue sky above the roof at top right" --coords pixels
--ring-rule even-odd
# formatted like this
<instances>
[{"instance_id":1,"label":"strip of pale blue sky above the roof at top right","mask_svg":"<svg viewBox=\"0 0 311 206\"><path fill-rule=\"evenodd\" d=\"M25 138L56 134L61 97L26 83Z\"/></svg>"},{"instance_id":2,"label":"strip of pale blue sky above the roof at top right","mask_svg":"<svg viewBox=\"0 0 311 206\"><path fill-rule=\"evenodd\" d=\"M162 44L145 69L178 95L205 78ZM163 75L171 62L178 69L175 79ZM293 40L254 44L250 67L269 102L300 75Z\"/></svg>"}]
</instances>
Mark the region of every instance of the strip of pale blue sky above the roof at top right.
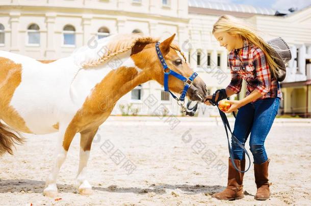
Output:
<instances>
[{"instance_id":1,"label":"strip of pale blue sky above the roof at top right","mask_svg":"<svg viewBox=\"0 0 311 206\"><path fill-rule=\"evenodd\" d=\"M275 10L288 10L292 7L300 10L311 5L311 0L218 0L215 2L245 4L254 7L267 7Z\"/></svg>"}]
</instances>

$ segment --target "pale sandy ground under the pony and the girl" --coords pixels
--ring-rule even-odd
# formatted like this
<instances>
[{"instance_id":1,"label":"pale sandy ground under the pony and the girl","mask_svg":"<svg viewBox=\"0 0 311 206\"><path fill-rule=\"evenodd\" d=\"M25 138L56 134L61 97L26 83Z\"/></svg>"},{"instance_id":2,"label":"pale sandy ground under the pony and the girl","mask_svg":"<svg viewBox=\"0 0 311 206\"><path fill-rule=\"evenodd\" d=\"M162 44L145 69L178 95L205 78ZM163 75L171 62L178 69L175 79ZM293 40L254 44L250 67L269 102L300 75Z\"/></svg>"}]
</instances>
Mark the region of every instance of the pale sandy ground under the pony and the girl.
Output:
<instances>
[{"instance_id":1,"label":"pale sandy ground under the pony and the girl","mask_svg":"<svg viewBox=\"0 0 311 206\"><path fill-rule=\"evenodd\" d=\"M79 164L76 136L59 174L60 200L42 195L57 134L27 135L14 156L0 158L0 205L311 205L310 123L274 124L266 142L273 183L269 200L254 200L251 165L244 177L245 198L220 201L211 195L226 185L222 125L213 119L207 126L195 117L179 120L174 125L169 117L112 117L104 123L88 164L91 196L73 187Z\"/></svg>"}]
</instances>

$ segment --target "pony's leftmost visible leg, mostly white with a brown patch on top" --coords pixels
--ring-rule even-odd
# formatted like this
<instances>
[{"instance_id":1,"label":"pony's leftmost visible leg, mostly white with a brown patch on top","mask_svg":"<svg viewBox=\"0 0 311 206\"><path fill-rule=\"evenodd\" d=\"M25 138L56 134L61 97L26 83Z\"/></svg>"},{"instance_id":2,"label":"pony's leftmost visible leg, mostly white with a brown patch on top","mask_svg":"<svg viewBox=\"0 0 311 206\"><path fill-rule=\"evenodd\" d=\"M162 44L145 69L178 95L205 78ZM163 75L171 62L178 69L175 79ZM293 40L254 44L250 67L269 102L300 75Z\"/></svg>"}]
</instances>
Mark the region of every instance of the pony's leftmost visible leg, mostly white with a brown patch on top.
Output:
<instances>
[{"instance_id":1,"label":"pony's leftmost visible leg, mostly white with a brown patch on top","mask_svg":"<svg viewBox=\"0 0 311 206\"><path fill-rule=\"evenodd\" d=\"M59 136L55 152L55 162L51 172L47 176L43 195L48 197L55 197L58 194L56 180L58 177L59 170L64 163L69 145L75 135L76 131L68 128L61 128L59 130Z\"/></svg>"}]
</instances>

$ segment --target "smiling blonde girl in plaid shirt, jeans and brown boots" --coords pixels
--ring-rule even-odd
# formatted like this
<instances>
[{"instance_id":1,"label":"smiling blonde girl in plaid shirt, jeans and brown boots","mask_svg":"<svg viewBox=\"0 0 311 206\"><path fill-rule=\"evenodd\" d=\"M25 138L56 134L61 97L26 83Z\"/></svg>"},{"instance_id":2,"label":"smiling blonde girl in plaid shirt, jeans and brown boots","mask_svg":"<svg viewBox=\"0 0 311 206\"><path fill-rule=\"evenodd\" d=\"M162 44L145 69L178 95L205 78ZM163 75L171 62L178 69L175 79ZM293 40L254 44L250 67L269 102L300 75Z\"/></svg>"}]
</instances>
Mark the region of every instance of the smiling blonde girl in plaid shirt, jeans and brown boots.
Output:
<instances>
[{"instance_id":1,"label":"smiling blonde girl in plaid shirt, jeans and brown boots","mask_svg":"<svg viewBox=\"0 0 311 206\"><path fill-rule=\"evenodd\" d=\"M265 139L278 112L281 90L275 78L277 64L273 61L274 50L250 26L243 21L223 15L213 26L213 35L228 51L231 82L216 94L216 101L241 91L242 80L247 84L246 97L229 101L231 107L226 113L239 109L234 135L244 145L249 134L250 151L254 159L254 174L257 192L255 199L266 200L270 197L271 185L268 182L269 159L265 151ZM218 97L221 97L218 99ZM212 99L212 96L208 97ZM205 102L210 105L209 101ZM240 170L245 170L245 154L237 142L231 141L234 162ZM226 189L213 197L234 200L244 197L243 175L228 161L228 183Z\"/></svg>"}]
</instances>

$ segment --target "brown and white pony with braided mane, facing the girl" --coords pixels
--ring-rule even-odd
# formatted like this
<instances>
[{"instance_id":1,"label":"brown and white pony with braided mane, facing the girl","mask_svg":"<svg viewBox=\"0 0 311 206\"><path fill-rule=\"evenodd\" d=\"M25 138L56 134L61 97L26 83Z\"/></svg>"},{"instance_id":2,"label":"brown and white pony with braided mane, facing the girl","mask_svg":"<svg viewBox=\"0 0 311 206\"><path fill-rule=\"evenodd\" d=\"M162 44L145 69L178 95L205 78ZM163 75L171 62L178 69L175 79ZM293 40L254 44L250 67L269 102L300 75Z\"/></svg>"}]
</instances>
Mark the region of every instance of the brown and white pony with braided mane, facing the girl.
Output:
<instances>
[{"instance_id":1,"label":"brown and white pony with braided mane, facing the girl","mask_svg":"<svg viewBox=\"0 0 311 206\"><path fill-rule=\"evenodd\" d=\"M160 44L169 68L185 77L193 71L172 37ZM43 64L33 58L0 51L0 155L12 154L14 143L22 143L18 132L58 132L55 164L43 194L56 196L56 179L70 143L81 134L76 187L89 195L86 166L92 140L116 102L139 84L149 80L163 85L163 68L155 52L157 39L142 35L116 35L85 46L66 58ZM100 55L98 55L100 54ZM184 82L169 77L169 88L180 92ZM193 101L206 97L205 83L197 77L188 90ZM105 108L105 109L103 109Z\"/></svg>"}]
</instances>

